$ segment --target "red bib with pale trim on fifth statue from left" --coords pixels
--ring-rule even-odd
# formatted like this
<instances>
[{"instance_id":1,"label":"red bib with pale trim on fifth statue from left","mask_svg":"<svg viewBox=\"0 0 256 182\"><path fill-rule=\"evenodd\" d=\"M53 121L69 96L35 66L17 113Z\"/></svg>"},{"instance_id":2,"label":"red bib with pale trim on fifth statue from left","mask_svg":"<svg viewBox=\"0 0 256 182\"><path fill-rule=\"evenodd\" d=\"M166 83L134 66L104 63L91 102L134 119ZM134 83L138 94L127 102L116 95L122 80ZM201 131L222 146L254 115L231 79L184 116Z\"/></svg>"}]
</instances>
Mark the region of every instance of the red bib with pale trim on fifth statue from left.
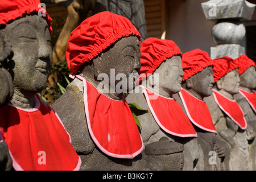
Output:
<instances>
[{"instance_id":1,"label":"red bib with pale trim on fifth statue from left","mask_svg":"<svg viewBox=\"0 0 256 182\"><path fill-rule=\"evenodd\" d=\"M237 101L231 101L216 90L213 91L214 100L216 101L220 109L224 111L224 113L228 115L229 118L232 119L232 121L234 121L242 130L245 130L247 127L247 123L245 120L245 116L243 115L243 111L241 107L237 104Z\"/></svg>"}]
</instances>

